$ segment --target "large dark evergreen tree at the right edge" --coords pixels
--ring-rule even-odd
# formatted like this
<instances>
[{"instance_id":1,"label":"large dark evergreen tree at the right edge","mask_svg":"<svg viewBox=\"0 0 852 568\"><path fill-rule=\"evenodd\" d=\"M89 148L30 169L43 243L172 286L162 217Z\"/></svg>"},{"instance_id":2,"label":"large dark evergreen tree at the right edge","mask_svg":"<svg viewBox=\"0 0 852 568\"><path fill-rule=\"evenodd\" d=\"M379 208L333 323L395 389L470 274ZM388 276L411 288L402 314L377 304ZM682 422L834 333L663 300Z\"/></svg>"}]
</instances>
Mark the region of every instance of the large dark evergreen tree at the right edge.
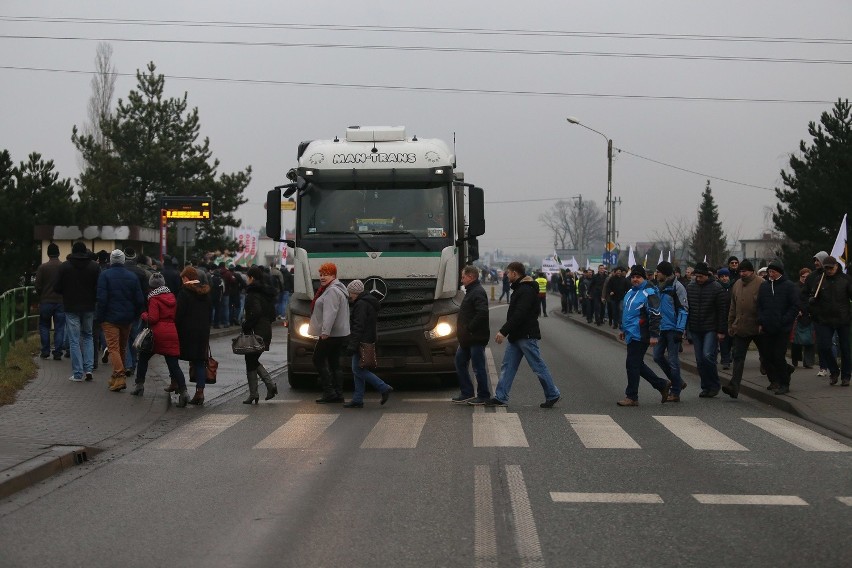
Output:
<instances>
[{"instance_id":1,"label":"large dark evergreen tree at the right edge","mask_svg":"<svg viewBox=\"0 0 852 568\"><path fill-rule=\"evenodd\" d=\"M823 112L820 124L808 124L813 142L799 142L800 155L790 156L790 171L781 170L786 189L772 220L792 244L783 247L793 267L811 266L814 253L830 251L843 214L852 203L852 107L838 100Z\"/></svg>"}]
</instances>

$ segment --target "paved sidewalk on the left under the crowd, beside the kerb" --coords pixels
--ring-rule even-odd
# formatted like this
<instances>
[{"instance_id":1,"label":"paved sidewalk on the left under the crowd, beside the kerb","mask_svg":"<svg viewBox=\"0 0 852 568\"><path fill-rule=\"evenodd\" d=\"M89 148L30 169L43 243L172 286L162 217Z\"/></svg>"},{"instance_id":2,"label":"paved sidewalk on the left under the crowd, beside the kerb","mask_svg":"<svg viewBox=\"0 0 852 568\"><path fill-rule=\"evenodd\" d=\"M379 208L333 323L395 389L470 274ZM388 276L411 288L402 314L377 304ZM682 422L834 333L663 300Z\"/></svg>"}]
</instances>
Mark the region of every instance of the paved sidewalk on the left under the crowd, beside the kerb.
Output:
<instances>
[{"instance_id":1,"label":"paved sidewalk on the left under the crowd, beside the kerb","mask_svg":"<svg viewBox=\"0 0 852 568\"><path fill-rule=\"evenodd\" d=\"M287 328L273 325L272 330L272 350L261 361L275 376L286 365ZM130 396L133 379L120 393L107 389L109 364L100 363L94 381L74 383L68 380L70 359L36 358L37 377L14 404L0 407L0 499L139 435L168 413L203 412L246 387L245 360L231 353L231 338L238 333L237 327L211 330L210 348L219 361L217 381L204 389L204 406L185 409L173 407L163 391L169 377L162 357L151 359L141 397ZM181 368L186 374L185 362ZM192 395L193 384L186 378Z\"/></svg>"}]
</instances>

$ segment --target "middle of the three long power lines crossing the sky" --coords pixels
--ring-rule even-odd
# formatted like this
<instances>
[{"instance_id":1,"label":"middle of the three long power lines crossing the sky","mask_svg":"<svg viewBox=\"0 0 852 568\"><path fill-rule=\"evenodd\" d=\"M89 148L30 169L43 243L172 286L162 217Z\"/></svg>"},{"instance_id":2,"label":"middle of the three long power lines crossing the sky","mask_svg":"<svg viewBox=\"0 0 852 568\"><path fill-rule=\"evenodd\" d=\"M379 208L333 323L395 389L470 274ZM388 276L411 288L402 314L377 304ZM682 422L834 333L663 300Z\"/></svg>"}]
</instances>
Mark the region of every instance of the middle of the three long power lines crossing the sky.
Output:
<instances>
[{"instance_id":1,"label":"middle of the three long power lines crossing the sky","mask_svg":"<svg viewBox=\"0 0 852 568\"><path fill-rule=\"evenodd\" d=\"M606 57L614 59L675 59L683 61L726 61L745 63L795 63L805 65L852 65L846 59L802 59L796 57L747 57L742 55L692 55L688 53L629 53L606 51L562 51L552 49L507 49L479 47L433 47L421 45L380 45L349 43L299 43L277 41L196 40L196 39L151 39L122 37L84 37L48 35L0 35L0 39L49 40L49 41L97 41L116 43L154 43L165 45L221 45L227 47L277 47L310 49L363 49L372 51L409 51L437 53L477 53L500 55L549 55L558 57Z\"/></svg>"}]
</instances>

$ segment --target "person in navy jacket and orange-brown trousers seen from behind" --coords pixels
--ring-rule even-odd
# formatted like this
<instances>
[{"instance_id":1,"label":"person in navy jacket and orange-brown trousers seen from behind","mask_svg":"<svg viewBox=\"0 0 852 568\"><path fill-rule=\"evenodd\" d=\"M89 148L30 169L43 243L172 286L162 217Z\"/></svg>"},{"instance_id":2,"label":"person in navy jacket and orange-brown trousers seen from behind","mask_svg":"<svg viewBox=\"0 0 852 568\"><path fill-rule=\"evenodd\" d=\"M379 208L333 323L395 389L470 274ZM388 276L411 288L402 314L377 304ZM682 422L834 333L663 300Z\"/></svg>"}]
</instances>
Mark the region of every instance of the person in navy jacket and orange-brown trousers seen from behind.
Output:
<instances>
[{"instance_id":1,"label":"person in navy jacket and orange-brown trousers seen from behind","mask_svg":"<svg viewBox=\"0 0 852 568\"><path fill-rule=\"evenodd\" d=\"M103 329L112 363L109 390L118 392L127 388L125 353L130 327L145 308L139 279L124 267L124 253L118 249L109 256L109 268L98 277L97 298L95 320Z\"/></svg>"}]
</instances>

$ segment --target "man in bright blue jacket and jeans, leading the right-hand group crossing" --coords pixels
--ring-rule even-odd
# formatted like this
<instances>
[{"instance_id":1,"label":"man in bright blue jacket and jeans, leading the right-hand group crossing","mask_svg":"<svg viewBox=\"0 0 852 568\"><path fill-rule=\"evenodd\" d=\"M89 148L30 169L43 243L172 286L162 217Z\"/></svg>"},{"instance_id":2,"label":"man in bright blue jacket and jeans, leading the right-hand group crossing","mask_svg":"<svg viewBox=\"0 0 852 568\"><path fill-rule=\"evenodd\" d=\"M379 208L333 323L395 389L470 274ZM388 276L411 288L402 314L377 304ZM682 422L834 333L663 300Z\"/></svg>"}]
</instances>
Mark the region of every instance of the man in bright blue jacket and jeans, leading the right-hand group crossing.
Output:
<instances>
[{"instance_id":1,"label":"man in bright blue jacket and jeans, leading the right-hand group crossing","mask_svg":"<svg viewBox=\"0 0 852 568\"><path fill-rule=\"evenodd\" d=\"M630 290L624 295L621 333L618 334L619 339L627 343L627 389L625 398L616 404L639 406L639 377L660 391L661 402L667 402L672 382L659 377L645 363L648 346L656 345L660 337L660 296L639 264L630 268L630 285Z\"/></svg>"}]
</instances>

